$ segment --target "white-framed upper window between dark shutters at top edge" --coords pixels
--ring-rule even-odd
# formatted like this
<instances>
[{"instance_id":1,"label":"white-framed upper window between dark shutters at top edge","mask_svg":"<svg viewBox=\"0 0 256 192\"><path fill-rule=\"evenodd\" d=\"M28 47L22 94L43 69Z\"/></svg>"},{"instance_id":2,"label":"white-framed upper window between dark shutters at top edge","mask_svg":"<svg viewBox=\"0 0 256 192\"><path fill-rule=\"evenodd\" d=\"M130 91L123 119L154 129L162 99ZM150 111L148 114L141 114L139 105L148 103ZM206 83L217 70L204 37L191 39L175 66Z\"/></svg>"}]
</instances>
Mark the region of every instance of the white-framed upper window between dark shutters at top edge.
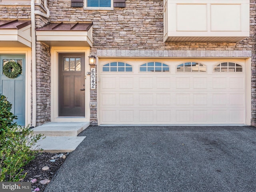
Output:
<instances>
[{"instance_id":1,"label":"white-framed upper window between dark shutters at top edge","mask_svg":"<svg viewBox=\"0 0 256 192\"><path fill-rule=\"evenodd\" d=\"M85 9L113 10L113 0L85 0Z\"/></svg>"}]
</instances>

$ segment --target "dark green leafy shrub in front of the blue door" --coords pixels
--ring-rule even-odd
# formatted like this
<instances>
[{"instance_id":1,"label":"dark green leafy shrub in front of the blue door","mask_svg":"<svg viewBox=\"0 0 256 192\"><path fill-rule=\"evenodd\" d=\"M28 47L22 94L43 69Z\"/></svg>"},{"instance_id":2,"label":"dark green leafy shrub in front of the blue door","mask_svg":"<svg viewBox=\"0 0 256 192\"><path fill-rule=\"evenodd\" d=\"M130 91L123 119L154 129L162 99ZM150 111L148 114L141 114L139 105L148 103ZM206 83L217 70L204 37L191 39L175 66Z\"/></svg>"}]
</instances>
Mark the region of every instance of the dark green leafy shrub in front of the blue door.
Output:
<instances>
[{"instance_id":1,"label":"dark green leafy shrub in front of the blue door","mask_svg":"<svg viewBox=\"0 0 256 192\"><path fill-rule=\"evenodd\" d=\"M8 102L6 96L0 94L0 133L16 125L13 120L17 118L12 114L11 109L12 104Z\"/></svg>"}]
</instances>

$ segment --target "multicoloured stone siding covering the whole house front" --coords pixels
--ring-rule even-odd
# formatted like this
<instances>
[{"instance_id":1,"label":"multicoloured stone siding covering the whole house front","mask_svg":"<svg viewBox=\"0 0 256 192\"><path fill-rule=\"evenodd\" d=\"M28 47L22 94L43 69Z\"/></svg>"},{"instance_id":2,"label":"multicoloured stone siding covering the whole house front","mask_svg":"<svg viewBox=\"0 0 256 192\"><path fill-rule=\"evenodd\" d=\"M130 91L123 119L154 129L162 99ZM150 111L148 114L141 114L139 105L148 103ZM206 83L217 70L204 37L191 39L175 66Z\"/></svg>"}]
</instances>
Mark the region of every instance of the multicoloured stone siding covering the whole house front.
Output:
<instances>
[{"instance_id":1,"label":"multicoloured stone siding covering the whole house front","mask_svg":"<svg viewBox=\"0 0 256 192\"><path fill-rule=\"evenodd\" d=\"M71 0L49 0L50 18L36 16L36 27L47 22L93 22L93 48L90 54L115 52L124 56L153 51L157 56L173 54L242 54L252 58L252 125L256 126L256 0L250 0L250 37L238 43L164 43L163 0L126 0L125 8L84 10L72 8ZM41 9L36 6L36 9ZM42 10L43 11L43 10ZM1 6L0 19L28 19L30 6ZM50 48L37 42L38 111L37 124L50 121ZM127 51L127 52L126 52ZM200 57L199 56L199 57ZM90 101L97 101L97 90L90 91ZM42 99L43 98L43 99ZM97 110L91 108L91 124L97 124Z\"/></svg>"}]
</instances>

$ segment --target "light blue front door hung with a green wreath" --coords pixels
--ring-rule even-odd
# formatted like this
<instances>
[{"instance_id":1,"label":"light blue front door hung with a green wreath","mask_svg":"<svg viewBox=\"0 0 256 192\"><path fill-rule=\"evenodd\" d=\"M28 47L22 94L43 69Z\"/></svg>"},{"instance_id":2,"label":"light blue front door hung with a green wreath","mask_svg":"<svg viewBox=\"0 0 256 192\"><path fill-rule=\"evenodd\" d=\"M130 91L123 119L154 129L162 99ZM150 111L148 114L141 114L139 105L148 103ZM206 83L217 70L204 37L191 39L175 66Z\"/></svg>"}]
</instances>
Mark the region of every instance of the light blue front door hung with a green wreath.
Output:
<instances>
[{"instance_id":1,"label":"light blue front door hung with a green wreath","mask_svg":"<svg viewBox=\"0 0 256 192\"><path fill-rule=\"evenodd\" d=\"M22 74L8 78L3 74L3 66L15 61L22 66ZM0 94L12 104L12 113L18 117L16 122L25 125L25 55L0 55Z\"/></svg>"}]
</instances>

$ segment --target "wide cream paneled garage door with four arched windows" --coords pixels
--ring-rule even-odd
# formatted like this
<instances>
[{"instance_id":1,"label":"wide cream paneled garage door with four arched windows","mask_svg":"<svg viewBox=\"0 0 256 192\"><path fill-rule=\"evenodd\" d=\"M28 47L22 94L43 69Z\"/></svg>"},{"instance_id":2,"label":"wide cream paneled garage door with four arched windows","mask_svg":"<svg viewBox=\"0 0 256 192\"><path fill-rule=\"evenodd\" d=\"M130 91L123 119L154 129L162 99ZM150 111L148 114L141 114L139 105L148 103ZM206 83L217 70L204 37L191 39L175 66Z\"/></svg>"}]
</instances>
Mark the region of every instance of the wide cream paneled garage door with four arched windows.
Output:
<instances>
[{"instance_id":1,"label":"wide cream paneled garage door with four arched windows","mask_svg":"<svg viewBox=\"0 0 256 192\"><path fill-rule=\"evenodd\" d=\"M100 60L99 124L244 124L245 60Z\"/></svg>"}]
</instances>

